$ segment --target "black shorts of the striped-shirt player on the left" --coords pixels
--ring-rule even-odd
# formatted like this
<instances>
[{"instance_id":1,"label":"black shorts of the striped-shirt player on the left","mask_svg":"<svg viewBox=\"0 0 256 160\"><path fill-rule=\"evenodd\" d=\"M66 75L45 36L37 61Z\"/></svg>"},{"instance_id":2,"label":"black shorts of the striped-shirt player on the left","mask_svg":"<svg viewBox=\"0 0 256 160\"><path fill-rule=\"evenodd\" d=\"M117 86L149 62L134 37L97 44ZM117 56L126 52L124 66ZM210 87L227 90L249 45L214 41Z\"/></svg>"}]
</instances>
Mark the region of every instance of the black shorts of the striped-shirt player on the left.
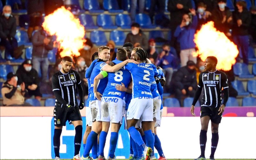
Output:
<instances>
[{"instance_id":1,"label":"black shorts of the striped-shirt player on the left","mask_svg":"<svg viewBox=\"0 0 256 160\"><path fill-rule=\"evenodd\" d=\"M61 107L61 103L56 102L53 110L54 114L54 126L66 126L66 121L82 121L82 116L80 114L79 108L75 107L76 111L68 112L68 108L64 105Z\"/></svg>"}]
</instances>

